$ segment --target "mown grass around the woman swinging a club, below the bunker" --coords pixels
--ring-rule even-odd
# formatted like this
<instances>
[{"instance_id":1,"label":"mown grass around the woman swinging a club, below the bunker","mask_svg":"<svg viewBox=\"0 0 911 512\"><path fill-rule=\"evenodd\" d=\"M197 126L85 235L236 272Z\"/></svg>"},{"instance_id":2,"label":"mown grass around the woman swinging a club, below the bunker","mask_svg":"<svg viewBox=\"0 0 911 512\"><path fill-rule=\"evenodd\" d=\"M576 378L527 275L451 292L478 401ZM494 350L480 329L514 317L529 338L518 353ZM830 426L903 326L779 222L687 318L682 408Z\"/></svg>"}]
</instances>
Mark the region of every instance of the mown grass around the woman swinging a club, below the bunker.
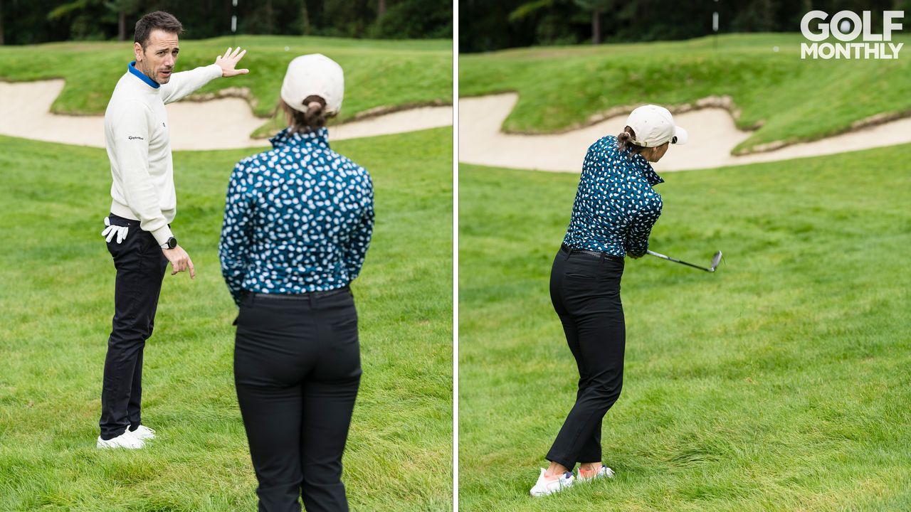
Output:
<instances>
[{"instance_id":1,"label":"mown grass around the woman swinging a club, below the bunker","mask_svg":"<svg viewBox=\"0 0 911 512\"><path fill-rule=\"evenodd\" d=\"M540 499L576 396L548 275L578 174L462 166L461 509L911 509L908 159L664 173L651 249L725 259L627 259L625 382L602 437L617 478Z\"/></svg>"}]
</instances>

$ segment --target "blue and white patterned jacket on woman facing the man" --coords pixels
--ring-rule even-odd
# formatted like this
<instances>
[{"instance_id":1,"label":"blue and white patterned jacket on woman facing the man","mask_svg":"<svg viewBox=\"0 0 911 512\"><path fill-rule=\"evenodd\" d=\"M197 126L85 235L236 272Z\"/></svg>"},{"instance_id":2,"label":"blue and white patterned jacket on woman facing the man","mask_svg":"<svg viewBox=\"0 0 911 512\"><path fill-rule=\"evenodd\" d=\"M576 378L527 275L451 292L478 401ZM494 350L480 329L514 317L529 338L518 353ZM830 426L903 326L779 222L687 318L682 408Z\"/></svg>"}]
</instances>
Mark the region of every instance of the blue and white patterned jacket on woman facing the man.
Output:
<instances>
[{"instance_id":1,"label":"blue and white patterned jacket on woman facing the man","mask_svg":"<svg viewBox=\"0 0 911 512\"><path fill-rule=\"evenodd\" d=\"M374 228L370 174L334 152L326 128L271 138L272 149L230 176L219 257L234 302L241 291L333 290L361 271Z\"/></svg>"}]
</instances>

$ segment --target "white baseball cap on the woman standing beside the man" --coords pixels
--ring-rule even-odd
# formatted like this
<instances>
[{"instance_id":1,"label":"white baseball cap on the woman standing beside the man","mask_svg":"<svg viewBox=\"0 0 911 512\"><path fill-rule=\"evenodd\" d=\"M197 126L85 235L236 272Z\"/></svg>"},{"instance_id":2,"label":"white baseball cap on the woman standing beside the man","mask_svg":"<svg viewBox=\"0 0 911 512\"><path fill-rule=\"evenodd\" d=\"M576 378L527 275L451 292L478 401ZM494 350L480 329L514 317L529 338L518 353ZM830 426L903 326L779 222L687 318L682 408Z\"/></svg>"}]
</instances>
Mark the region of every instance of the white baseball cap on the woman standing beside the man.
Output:
<instances>
[{"instance_id":1,"label":"white baseball cap on the woman standing beside the man","mask_svg":"<svg viewBox=\"0 0 911 512\"><path fill-rule=\"evenodd\" d=\"M308 96L322 97L325 112L332 116L342 109L344 73L333 59L322 54L294 57L281 82L281 99L295 110L307 111L303 100Z\"/></svg>"}]
</instances>

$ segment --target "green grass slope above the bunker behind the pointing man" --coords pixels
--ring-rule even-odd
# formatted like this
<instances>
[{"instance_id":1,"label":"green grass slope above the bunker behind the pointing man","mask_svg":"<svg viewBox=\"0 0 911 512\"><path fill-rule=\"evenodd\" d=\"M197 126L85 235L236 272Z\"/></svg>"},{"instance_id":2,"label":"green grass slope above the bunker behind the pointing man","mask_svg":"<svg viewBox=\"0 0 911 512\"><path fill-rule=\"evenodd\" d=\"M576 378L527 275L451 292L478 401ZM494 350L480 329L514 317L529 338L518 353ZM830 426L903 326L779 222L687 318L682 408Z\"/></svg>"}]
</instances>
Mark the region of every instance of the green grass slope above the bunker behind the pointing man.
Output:
<instances>
[{"instance_id":1,"label":"green grass slope above the bunker behind the pointing man","mask_svg":"<svg viewBox=\"0 0 911 512\"><path fill-rule=\"evenodd\" d=\"M248 87L253 112L269 117L279 99L281 79L295 56L322 53L345 72L345 100L338 120L372 108L401 108L452 103L452 41L379 41L310 36L238 36L246 48L241 66L250 74L216 79L198 91ZM232 46L230 37L182 39L177 70L215 62ZM288 51L285 51L288 46ZM133 44L118 42L50 43L0 46L0 79L7 81L64 78L67 86L51 110L58 114L104 114L107 100L127 64ZM274 131L270 123L258 135Z\"/></svg>"}]
</instances>

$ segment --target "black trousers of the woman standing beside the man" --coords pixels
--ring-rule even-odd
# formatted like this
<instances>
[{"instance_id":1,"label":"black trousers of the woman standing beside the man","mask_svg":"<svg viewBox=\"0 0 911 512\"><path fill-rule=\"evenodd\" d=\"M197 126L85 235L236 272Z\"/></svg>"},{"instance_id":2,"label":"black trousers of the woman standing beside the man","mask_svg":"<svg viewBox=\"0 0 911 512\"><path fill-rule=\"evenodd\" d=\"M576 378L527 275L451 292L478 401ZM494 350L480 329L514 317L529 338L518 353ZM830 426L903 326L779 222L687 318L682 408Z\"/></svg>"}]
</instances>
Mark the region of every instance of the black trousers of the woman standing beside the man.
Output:
<instances>
[{"instance_id":1,"label":"black trousers of the woman standing beside the man","mask_svg":"<svg viewBox=\"0 0 911 512\"><path fill-rule=\"evenodd\" d=\"M261 512L348 510L342 453L361 380L347 287L302 296L248 293L234 382Z\"/></svg>"}]
</instances>

